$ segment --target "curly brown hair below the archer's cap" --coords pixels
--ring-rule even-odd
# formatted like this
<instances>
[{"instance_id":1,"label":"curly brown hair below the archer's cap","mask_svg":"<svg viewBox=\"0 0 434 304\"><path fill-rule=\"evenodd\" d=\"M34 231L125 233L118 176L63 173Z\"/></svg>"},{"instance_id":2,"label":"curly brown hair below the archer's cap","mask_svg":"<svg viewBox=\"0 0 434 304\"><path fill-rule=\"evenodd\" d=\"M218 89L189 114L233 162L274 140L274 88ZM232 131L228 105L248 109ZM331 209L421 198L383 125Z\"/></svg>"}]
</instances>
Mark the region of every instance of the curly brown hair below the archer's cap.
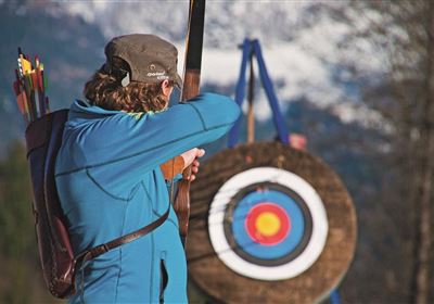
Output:
<instances>
[{"instance_id":1,"label":"curly brown hair below the archer's cap","mask_svg":"<svg viewBox=\"0 0 434 304\"><path fill-rule=\"evenodd\" d=\"M169 85L174 86L174 81ZM86 83L84 94L93 105L126 112L162 111L168 103L163 96L161 83L131 81L123 87L120 80L106 74L103 67Z\"/></svg>"}]
</instances>

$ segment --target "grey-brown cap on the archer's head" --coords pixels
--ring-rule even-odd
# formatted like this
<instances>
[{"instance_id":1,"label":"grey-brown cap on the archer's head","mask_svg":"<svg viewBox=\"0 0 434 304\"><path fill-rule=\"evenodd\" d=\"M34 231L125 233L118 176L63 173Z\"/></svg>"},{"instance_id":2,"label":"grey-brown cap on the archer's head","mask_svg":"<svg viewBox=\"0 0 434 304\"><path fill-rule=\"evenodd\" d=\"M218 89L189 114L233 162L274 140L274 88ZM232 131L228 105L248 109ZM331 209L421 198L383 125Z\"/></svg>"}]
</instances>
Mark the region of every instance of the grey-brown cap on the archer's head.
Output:
<instances>
[{"instance_id":1,"label":"grey-brown cap on the archer's head","mask_svg":"<svg viewBox=\"0 0 434 304\"><path fill-rule=\"evenodd\" d=\"M124 60L130 69L126 75L126 85L129 80L156 84L165 79L174 80L178 88L182 87L182 79L178 75L178 50L170 42L146 34L132 34L113 38L105 46L106 62L104 71L112 73L116 69L113 59Z\"/></svg>"}]
</instances>

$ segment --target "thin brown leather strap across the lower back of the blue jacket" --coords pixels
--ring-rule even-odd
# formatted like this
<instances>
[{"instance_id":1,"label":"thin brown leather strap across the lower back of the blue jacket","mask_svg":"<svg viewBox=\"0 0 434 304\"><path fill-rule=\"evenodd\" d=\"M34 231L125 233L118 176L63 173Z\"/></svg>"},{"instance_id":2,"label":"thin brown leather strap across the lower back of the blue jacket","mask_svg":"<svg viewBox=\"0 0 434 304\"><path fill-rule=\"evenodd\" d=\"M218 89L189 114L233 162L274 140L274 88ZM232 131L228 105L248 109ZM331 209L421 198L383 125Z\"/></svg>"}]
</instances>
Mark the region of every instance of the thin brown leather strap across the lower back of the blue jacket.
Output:
<instances>
[{"instance_id":1,"label":"thin brown leather strap across the lower back of the blue jacket","mask_svg":"<svg viewBox=\"0 0 434 304\"><path fill-rule=\"evenodd\" d=\"M117 248L119 245L132 242L141 237L144 237L149 232L155 230L158 228L169 216L170 213L170 203L167 207L167 211L156 220L152 221L151 224L144 226L143 228L136 230L131 233L125 235L123 237L119 237L117 239L114 239L107 243L94 246L90 250L87 250L85 252L81 252L80 254L77 255L75 258L75 268L79 268L82 263L95 258L97 256L106 253L107 251Z\"/></svg>"}]
</instances>

